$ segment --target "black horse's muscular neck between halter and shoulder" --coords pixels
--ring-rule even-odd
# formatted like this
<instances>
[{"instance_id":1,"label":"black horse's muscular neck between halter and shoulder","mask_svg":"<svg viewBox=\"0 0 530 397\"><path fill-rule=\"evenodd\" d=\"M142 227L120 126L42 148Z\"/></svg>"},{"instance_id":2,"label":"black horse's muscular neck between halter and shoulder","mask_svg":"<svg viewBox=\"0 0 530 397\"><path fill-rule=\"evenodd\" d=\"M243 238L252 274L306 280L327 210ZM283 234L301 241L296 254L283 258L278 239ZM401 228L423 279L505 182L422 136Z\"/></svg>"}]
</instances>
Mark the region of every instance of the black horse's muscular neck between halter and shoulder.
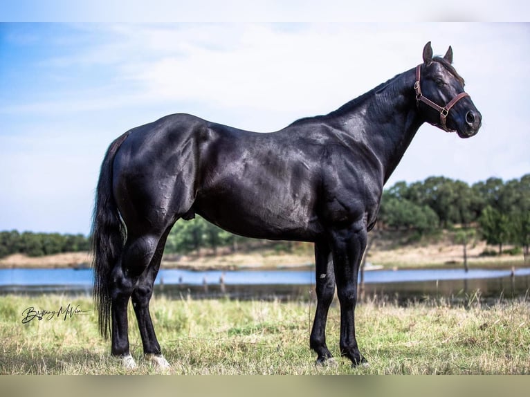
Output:
<instances>
[{"instance_id":1,"label":"black horse's muscular neck between halter and shoulder","mask_svg":"<svg viewBox=\"0 0 530 397\"><path fill-rule=\"evenodd\" d=\"M401 73L336 112L342 130L356 142L363 142L383 169L383 183L405 154L423 123L414 94L414 69ZM345 109L343 109L345 108Z\"/></svg>"}]
</instances>

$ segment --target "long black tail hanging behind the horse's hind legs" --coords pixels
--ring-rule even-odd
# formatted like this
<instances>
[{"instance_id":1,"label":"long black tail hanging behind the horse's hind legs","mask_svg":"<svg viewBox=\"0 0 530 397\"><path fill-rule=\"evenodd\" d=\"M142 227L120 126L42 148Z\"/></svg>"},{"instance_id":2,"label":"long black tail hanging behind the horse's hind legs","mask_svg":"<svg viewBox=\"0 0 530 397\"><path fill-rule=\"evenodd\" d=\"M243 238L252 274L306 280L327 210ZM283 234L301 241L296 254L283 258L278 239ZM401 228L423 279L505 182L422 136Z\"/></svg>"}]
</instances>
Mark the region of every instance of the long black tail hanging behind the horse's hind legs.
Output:
<instances>
[{"instance_id":1,"label":"long black tail hanging behind the horse's hind legs","mask_svg":"<svg viewBox=\"0 0 530 397\"><path fill-rule=\"evenodd\" d=\"M124 133L114 140L107 149L95 193L91 233L94 271L93 299L98 312L100 333L105 339L111 328L110 272L122 253L127 236L125 224L122 222L112 194L112 168L116 152L127 136L129 133Z\"/></svg>"}]
</instances>

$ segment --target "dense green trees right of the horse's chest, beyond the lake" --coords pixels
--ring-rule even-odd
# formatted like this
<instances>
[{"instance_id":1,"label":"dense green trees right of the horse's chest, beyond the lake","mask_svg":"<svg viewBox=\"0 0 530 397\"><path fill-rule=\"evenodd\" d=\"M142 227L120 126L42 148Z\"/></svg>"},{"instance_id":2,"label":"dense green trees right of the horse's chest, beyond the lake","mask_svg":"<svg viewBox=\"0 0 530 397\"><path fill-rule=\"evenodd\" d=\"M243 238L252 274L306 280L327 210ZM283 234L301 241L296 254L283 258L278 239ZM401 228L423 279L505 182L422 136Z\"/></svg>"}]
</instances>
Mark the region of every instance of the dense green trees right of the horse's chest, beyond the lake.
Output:
<instances>
[{"instance_id":1,"label":"dense green trees right of the horse's chest, beyond the lake","mask_svg":"<svg viewBox=\"0 0 530 397\"><path fill-rule=\"evenodd\" d=\"M437 222L426 208L436 214ZM504 244L513 243L528 257L530 174L506 183L488 178L472 186L441 176L410 185L398 182L383 193L379 219L386 227L409 228L422 234L477 223L482 238L499 246L500 252Z\"/></svg>"}]
</instances>

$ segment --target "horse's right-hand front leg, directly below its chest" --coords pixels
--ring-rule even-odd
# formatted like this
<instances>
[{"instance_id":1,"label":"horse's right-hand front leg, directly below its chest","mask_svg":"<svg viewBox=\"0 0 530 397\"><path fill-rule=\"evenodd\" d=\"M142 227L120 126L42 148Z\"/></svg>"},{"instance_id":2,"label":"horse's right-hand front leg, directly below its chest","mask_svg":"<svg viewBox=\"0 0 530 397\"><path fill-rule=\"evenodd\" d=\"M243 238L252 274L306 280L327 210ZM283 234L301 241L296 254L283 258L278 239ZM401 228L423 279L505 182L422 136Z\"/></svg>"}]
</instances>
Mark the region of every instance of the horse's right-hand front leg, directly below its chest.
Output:
<instances>
[{"instance_id":1,"label":"horse's right-hand front leg, directly below its chest","mask_svg":"<svg viewBox=\"0 0 530 397\"><path fill-rule=\"evenodd\" d=\"M340 353L356 366L367 364L355 337L355 306L360 260L367 243L364 225L331 232L331 252L340 302Z\"/></svg>"}]
</instances>

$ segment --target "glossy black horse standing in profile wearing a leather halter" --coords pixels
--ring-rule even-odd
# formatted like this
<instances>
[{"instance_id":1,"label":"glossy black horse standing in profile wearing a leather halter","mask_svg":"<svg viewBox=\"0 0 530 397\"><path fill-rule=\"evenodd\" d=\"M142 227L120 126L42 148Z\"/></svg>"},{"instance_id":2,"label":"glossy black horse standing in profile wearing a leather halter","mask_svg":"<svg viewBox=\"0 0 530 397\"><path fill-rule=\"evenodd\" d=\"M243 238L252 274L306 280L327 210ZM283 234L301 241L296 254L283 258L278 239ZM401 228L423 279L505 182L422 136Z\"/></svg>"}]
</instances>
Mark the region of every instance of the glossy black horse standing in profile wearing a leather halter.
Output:
<instances>
[{"instance_id":1,"label":"glossy black horse standing in profile wearing a leather halter","mask_svg":"<svg viewBox=\"0 0 530 397\"><path fill-rule=\"evenodd\" d=\"M168 365L149 299L167 234L178 219L199 214L246 237L314 242L311 349L318 362L332 358L325 327L337 287L340 353L365 362L355 338L357 279L383 185L423 122L461 138L481 125L452 62L450 47L433 57L429 42L416 68L336 111L273 133L174 114L112 142L95 200L93 268L100 331L107 336L111 329L113 356L136 365L127 335L131 298L146 359Z\"/></svg>"}]
</instances>

